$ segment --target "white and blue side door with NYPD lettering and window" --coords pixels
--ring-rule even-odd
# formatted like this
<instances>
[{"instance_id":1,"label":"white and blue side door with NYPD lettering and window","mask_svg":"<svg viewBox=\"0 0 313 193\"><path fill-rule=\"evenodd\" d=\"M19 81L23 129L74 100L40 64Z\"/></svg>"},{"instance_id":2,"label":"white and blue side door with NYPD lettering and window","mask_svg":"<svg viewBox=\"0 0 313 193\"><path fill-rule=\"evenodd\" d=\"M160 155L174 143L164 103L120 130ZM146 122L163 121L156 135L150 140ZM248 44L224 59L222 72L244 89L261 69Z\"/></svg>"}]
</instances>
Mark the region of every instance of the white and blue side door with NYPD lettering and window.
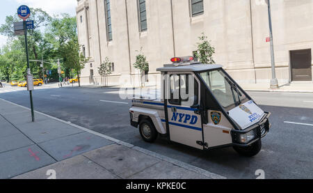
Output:
<instances>
[{"instance_id":1,"label":"white and blue side door with NYPD lettering and window","mask_svg":"<svg viewBox=\"0 0 313 193\"><path fill-rule=\"evenodd\" d=\"M202 119L195 108L200 104L200 82L192 73L168 75L167 110L170 140L203 149Z\"/></svg>"}]
</instances>

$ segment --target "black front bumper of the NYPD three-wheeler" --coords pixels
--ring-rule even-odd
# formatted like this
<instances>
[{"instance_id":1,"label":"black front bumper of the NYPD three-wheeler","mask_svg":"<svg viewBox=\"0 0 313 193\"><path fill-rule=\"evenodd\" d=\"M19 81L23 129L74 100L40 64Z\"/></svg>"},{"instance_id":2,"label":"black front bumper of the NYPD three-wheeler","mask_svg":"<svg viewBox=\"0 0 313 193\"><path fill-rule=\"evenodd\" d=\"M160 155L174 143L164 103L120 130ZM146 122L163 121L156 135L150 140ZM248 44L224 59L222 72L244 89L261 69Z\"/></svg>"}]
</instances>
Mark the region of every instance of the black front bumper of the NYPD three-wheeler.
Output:
<instances>
[{"instance_id":1,"label":"black front bumper of the NYPD three-wheeler","mask_svg":"<svg viewBox=\"0 0 313 193\"><path fill-rule=\"evenodd\" d=\"M262 139L262 137L265 137L268 133L269 129L271 128L271 123L269 123L268 118L271 116L270 112L265 112L265 115L259 121L259 123L256 123L255 125L250 126L250 128L247 128L246 130L232 130L232 145L233 146L250 146L251 144L254 144L256 141ZM239 137L241 134L246 134L252 130L255 130L255 138L248 142L248 144L242 144L239 142Z\"/></svg>"}]
</instances>

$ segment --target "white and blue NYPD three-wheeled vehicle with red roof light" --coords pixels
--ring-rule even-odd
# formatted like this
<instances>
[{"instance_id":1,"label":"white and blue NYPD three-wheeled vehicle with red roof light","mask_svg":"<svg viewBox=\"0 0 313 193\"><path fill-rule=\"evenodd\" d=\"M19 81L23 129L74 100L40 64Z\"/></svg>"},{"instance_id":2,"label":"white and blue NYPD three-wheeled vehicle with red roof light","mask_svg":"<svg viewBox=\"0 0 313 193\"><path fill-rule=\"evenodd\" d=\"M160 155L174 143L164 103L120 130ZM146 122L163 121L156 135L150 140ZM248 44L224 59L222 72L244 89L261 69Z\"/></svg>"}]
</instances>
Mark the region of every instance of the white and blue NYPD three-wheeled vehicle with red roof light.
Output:
<instances>
[{"instance_id":1,"label":"white and blue NYPD three-wheeled vehicle with red roof light","mask_svg":"<svg viewBox=\"0 0 313 193\"><path fill-rule=\"evenodd\" d=\"M131 125L143 140L158 135L201 150L233 146L240 155L254 156L262 148L271 124L263 111L223 70L193 57L173 58L161 72L162 96L134 98Z\"/></svg>"}]
</instances>

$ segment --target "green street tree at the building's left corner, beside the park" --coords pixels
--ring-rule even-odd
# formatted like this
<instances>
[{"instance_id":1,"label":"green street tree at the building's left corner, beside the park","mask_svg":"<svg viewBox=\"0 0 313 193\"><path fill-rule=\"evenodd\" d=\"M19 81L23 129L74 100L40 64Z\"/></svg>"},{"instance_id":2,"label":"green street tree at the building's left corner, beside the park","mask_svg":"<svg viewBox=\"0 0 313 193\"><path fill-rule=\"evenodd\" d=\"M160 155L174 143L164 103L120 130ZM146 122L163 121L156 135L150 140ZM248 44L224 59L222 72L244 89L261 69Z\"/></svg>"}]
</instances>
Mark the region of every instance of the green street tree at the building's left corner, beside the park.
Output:
<instances>
[{"instance_id":1,"label":"green street tree at the building's left corner, beside the park","mask_svg":"<svg viewBox=\"0 0 313 193\"><path fill-rule=\"evenodd\" d=\"M77 78L79 80L79 86L81 86L80 73L85 68L85 63L89 61L83 53L81 53L81 47L78 43L77 38L69 40L64 46L63 52L66 53L67 57L64 60L64 67L74 69L77 72Z\"/></svg>"}]
</instances>

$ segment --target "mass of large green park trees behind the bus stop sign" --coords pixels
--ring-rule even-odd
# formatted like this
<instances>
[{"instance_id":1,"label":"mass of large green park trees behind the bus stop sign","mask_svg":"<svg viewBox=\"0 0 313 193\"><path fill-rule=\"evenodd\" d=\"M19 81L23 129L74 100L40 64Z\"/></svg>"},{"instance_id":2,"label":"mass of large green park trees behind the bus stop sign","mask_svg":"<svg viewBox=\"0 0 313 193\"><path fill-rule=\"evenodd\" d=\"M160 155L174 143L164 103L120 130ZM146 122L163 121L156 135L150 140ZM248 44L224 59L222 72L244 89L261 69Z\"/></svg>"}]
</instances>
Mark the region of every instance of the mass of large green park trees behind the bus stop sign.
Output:
<instances>
[{"instance_id":1,"label":"mass of large green park trees behind the bus stop sign","mask_svg":"<svg viewBox=\"0 0 313 193\"><path fill-rule=\"evenodd\" d=\"M72 60L73 54L67 53L69 50L72 53L73 49L78 50L77 46L79 47L76 17L70 17L67 14L51 17L41 9L31 8L29 20L34 20L35 27L28 30L29 59L38 61L44 59L44 61L49 62L44 63L44 69L45 71L51 70L52 74L48 75L50 79L58 79L56 61L61 59L64 61L61 63L61 68L65 71L65 76L70 77L72 69L77 69L77 65L69 62ZM24 36L14 36L13 31L14 22L21 21L17 15L7 16L6 23L0 26L0 34L8 37L8 43L1 49L0 54L0 77L7 79L7 81L23 80L26 75ZM75 45L75 47L70 48L70 44ZM68 56L70 59L67 59ZM83 61L83 59L81 60ZM43 69L40 68L40 62L31 61L30 65L34 77L42 78Z\"/></svg>"}]
</instances>

